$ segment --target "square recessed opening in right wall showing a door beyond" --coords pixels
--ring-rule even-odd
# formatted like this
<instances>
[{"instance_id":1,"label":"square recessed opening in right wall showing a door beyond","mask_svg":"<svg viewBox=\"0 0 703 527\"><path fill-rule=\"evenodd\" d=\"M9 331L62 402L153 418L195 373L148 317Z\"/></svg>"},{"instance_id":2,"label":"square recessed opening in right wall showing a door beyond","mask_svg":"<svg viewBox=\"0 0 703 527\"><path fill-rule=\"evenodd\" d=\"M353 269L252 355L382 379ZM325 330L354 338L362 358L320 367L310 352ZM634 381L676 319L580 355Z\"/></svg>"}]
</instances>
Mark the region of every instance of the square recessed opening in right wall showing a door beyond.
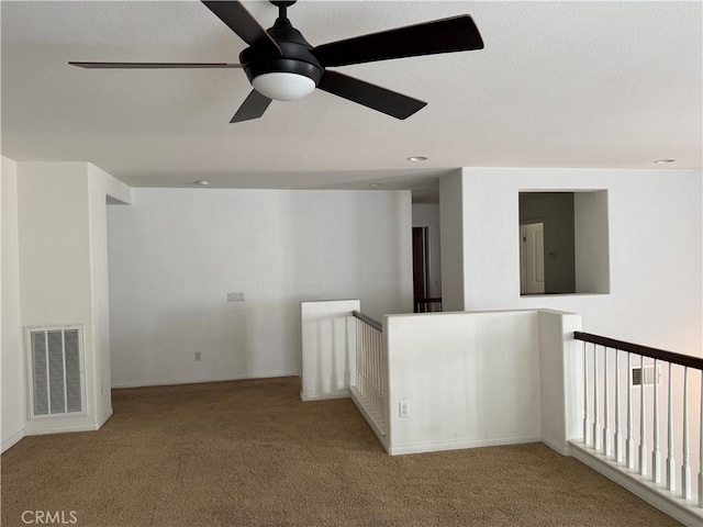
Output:
<instances>
[{"instance_id":1,"label":"square recessed opening in right wall showing a door beyond","mask_svg":"<svg viewBox=\"0 0 703 527\"><path fill-rule=\"evenodd\" d=\"M520 293L610 292L607 191L520 192Z\"/></svg>"}]
</instances>

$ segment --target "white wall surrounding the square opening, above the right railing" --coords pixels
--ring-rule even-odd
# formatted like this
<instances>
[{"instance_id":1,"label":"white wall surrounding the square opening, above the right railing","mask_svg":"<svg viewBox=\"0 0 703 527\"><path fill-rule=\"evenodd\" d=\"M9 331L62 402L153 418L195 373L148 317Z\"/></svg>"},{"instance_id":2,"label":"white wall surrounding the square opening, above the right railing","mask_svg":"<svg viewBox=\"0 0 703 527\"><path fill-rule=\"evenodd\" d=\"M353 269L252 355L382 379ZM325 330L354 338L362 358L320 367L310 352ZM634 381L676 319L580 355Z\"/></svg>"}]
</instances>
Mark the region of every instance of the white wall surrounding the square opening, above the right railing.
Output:
<instances>
[{"instance_id":1,"label":"white wall surrounding the square opening, above the right railing","mask_svg":"<svg viewBox=\"0 0 703 527\"><path fill-rule=\"evenodd\" d=\"M464 169L461 183L465 281L443 281L464 309L579 313L584 332L701 356L700 171ZM518 192L589 189L607 191L611 293L521 298Z\"/></svg>"}]
</instances>

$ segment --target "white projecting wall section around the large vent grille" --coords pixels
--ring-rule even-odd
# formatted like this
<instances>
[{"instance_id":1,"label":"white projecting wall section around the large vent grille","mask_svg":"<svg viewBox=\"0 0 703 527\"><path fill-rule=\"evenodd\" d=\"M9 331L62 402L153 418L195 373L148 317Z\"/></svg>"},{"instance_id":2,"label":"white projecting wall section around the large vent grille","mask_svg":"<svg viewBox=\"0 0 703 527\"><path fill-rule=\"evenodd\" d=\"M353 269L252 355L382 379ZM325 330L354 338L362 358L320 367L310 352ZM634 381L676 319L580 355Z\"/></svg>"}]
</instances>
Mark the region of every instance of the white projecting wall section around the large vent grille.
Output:
<instances>
[{"instance_id":1,"label":"white projecting wall section around the large vent grille","mask_svg":"<svg viewBox=\"0 0 703 527\"><path fill-rule=\"evenodd\" d=\"M25 423L26 434L99 428L111 415L104 363L105 193L130 190L85 162L18 164L21 327L81 324L87 415Z\"/></svg>"}]
</instances>

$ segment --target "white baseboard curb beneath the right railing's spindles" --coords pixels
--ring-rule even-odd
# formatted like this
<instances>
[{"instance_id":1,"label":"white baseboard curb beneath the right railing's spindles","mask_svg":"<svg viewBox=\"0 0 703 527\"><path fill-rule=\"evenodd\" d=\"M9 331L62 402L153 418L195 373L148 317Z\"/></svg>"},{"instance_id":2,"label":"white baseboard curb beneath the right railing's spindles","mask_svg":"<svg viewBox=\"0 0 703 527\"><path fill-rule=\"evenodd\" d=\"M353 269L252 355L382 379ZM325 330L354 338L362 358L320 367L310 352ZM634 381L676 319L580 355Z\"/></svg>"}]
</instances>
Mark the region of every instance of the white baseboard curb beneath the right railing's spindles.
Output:
<instances>
[{"instance_id":1,"label":"white baseboard curb beneath the right railing's spindles","mask_svg":"<svg viewBox=\"0 0 703 527\"><path fill-rule=\"evenodd\" d=\"M674 492L658 487L656 483L645 480L635 471L620 467L602 453L584 448L577 441L571 442L571 456L677 522L690 527L703 525L703 508L694 505L695 500L687 502Z\"/></svg>"}]
</instances>

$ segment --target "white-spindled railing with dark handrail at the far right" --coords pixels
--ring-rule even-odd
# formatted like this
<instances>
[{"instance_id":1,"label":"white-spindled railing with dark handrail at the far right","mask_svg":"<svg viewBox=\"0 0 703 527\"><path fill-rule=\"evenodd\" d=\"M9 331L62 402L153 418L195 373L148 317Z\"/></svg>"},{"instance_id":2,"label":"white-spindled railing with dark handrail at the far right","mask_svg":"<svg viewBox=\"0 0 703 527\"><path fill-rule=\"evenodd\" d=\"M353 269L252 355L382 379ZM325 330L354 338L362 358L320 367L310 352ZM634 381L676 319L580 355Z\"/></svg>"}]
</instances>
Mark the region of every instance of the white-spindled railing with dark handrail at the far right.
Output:
<instances>
[{"instance_id":1,"label":"white-spindled railing with dark handrail at the far right","mask_svg":"<svg viewBox=\"0 0 703 527\"><path fill-rule=\"evenodd\" d=\"M576 332L574 338L584 341L583 438L580 444L631 478L648 482L657 492L679 500L700 514L703 509L703 359L581 332ZM625 375L620 363L621 351L627 354ZM615 367L610 368L613 361ZM668 370L667 374L660 374L660 369ZM690 370L700 374L693 375ZM614 386L614 396L611 396L611 386ZM622 390L625 390L627 415L624 452ZM660 390L666 392L660 393ZM701 399L698 416L690 415L694 394ZM696 399L693 401L698 402ZM663 405L666 418L661 418ZM611 427L612 413L614 423ZM601 415L602 422L599 421ZM661 426L667 427L666 431L660 430ZM639 436L637 451L636 433ZM696 440L691 442L690 436L695 437L696 433ZM663 446L659 439L662 435L667 440L663 472ZM681 464L677 463L677 458ZM693 467L698 467L698 478L693 475Z\"/></svg>"}]
</instances>

